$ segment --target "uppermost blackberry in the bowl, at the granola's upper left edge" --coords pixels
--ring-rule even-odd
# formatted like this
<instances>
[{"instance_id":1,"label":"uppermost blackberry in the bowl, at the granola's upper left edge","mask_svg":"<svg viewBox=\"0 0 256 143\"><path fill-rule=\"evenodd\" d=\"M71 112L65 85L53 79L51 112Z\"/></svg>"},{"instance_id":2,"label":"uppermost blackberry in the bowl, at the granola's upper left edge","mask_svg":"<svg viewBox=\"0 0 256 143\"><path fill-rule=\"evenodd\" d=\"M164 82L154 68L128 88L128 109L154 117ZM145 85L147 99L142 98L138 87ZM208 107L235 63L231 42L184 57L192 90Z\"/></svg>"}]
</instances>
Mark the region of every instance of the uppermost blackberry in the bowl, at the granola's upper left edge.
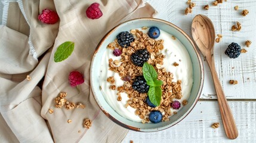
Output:
<instances>
[{"instance_id":1,"label":"uppermost blackberry in the bowl, at the granola's upper left edge","mask_svg":"<svg viewBox=\"0 0 256 143\"><path fill-rule=\"evenodd\" d=\"M134 41L133 35L127 31L119 33L118 36L116 36L116 39L118 39L119 45L124 48L130 46L130 43Z\"/></svg>"}]
</instances>

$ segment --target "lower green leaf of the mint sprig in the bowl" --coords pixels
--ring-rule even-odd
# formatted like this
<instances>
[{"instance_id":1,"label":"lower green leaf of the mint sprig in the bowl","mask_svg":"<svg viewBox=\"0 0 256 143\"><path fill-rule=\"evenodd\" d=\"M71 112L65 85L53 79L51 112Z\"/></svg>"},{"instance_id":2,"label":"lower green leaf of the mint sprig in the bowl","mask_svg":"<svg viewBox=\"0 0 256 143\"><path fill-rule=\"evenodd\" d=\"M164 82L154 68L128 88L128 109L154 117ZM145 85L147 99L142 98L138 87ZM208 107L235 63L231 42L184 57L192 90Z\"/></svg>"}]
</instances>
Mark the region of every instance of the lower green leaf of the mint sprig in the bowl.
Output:
<instances>
[{"instance_id":1,"label":"lower green leaf of the mint sprig in the bowl","mask_svg":"<svg viewBox=\"0 0 256 143\"><path fill-rule=\"evenodd\" d=\"M150 86L147 95L149 96L149 100L152 102L152 104L156 106L160 105L162 97L162 89L160 86Z\"/></svg>"}]
</instances>

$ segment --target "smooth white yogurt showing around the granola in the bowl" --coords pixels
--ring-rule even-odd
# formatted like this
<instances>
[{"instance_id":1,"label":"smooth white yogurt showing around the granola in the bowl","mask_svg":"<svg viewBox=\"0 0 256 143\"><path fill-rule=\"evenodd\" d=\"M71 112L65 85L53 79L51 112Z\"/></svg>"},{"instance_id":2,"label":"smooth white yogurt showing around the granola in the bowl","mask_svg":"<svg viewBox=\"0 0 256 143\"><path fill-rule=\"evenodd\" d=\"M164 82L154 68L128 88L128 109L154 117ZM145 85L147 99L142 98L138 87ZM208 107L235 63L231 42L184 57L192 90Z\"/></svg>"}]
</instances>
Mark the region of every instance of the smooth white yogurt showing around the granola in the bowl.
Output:
<instances>
[{"instance_id":1,"label":"smooth white yogurt showing around the granola in the bowl","mask_svg":"<svg viewBox=\"0 0 256 143\"><path fill-rule=\"evenodd\" d=\"M140 29L141 30L141 29ZM143 33L147 33L147 30L142 30ZM189 53L187 52L184 45L176 38L175 40L172 39L172 35L166 33L161 30L161 35L158 39L164 40L164 49L161 51L164 58L164 65L162 67L166 68L166 71L169 71L173 74L174 82L177 80L181 80L181 92L183 97L181 100L182 102L185 99L189 98L190 91L193 84L193 69L192 69L192 62L190 60ZM107 77L114 76L115 77L115 85L116 87L124 85L124 81L121 80L121 77L118 73L109 70L109 59L112 58L113 60L121 60L121 56L116 57L112 53L111 49L107 49L107 51L103 55L103 62L101 63L101 74L99 78L101 92L105 98L105 100L109 103L109 105L121 116L135 121L141 122L140 117L135 115L135 109L128 106L125 108L125 104L127 104L127 94L121 93L122 100L117 101L118 91L109 89L110 83L107 82ZM173 63L178 63L177 67L173 66ZM181 108L180 108L181 109ZM180 110L179 109L179 110ZM178 111L178 110L173 110Z\"/></svg>"}]
</instances>

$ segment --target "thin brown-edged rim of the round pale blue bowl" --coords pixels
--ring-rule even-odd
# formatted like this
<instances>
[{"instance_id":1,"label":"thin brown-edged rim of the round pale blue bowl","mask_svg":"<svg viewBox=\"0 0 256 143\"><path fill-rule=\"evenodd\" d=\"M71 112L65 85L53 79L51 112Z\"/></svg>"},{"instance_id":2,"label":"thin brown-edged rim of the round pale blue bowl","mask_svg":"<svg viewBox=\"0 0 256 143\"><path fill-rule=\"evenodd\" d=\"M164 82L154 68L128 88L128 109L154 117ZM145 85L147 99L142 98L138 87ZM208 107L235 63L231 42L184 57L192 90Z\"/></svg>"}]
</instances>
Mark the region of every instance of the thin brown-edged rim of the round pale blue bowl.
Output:
<instances>
[{"instance_id":1,"label":"thin brown-edged rim of the round pale blue bowl","mask_svg":"<svg viewBox=\"0 0 256 143\"><path fill-rule=\"evenodd\" d=\"M172 122L172 125L171 126L166 126L166 128L161 128L161 129L143 129L141 130L140 128L136 128L134 126L129 126L129 125L126 125L125 123L122 123L120 122L119 120L115 119L115 117L113 117L112 115L110 115L106 110L104 110L103 106L101 105L100 101L98 100L97 96L95 96L95 91L94 89L92 88L92 83L91 83L91 79L93 78L91 76L91 72L92 72L92 63L94 61L94 58L95 58L95 54L97 54L98 52L98 49L100 49L100 46L103 44L103 42L105 41L105 39L112 33L115 31L115 29L117 29L119 26L121 26L122 24L125 24L125 23L129 23L131 21L136 21L136 20L152 20L152 21L158 21L158 22L161 22L161 23L165 23L171 27L174 27L174 29L178 30L178 32L181 32L185 38L187 38L187 40L190 42L190 44L193 46L193 49L195 51L195 54L196 54L196 57L198 58L198 61L199 61L199 67L200 67L200 71L201 71L201 77L200 77L200 85L199 85L199 90L198 90L198 94L197 94L197 97L195 98L195 102L193 102L193 104L191 105L191 107L189 108L189 110L183 115L181 116L178 120ZM101 41L98 43L98 45L96 46L95 48L95 51L94 51L94 54L92 55L92 60L91 60L91 64L90 64L90 79L89 79L89 85L90 85L90 89L91 89L91 92L92 92L92 95L94 97L94 100L97 102L97 105L98 107L100 107L101 111L103 111L103 113L109 117L110 120L112 120L112 122L115 122L116 124L118 124L119 126L122 126L126 129L129 129L129 130L134 130L134 131L138 131L138 132L157 132L157 131L160 131L160 130L164 130L164 129L168 129L168 128L171 128L172 126L176 125L177 123L181 122L181 120L183 120L185 117L187 117L187 115L193 110L193 108L195 107L195 105L197 104L200 96L201 96L201 93L202 93L202 88L203 88L203 81L204 81L204 67L203 67L203 63L202 63L202 57L201 55L199 54L199 49L196 47L195 45L195 42L192 40L192 38L190 38L189 35L187 35L186 32L184 32L182 29L180 29L180 27L176 26L175 24L172 24L171 22L169 21L166 21L166 20L162 20L162 19L159 19L159 18L147 18L147 17L142 17L142 18L134 18L134 19L131 19L131 20L127 20L127 21L124 21L118 25L116 25L115 27L113 27L111 30L109 30L109 32L106 33L106 35L103 36L103 38L101 39Z\"/></svg>"}]
</instances>

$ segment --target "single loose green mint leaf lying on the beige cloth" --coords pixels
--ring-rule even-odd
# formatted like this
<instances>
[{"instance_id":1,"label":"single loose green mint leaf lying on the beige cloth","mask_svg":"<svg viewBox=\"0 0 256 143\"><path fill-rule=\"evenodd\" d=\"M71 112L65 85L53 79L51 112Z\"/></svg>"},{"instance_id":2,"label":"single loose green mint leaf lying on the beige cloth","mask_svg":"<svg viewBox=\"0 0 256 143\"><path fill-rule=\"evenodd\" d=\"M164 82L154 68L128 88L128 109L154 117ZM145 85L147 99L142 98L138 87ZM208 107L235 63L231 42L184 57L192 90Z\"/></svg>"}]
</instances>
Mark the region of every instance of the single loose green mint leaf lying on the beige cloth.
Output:
<instances>
[{"instance_id":1,"label":"single loose green mint leaf lying on the beige cloth","mask_svg":"<svg viewBox=\"0 0 256 143\"><path fill-rule=\"evenodd\" d=\"M60 46L58 46L57 51L54 54L54 61L60 62L63 60L66 60L67 57L69 57L73 50L74 50L75 43L74 42L64 42L61 43Z\"/></svg>"}]
</instances>

